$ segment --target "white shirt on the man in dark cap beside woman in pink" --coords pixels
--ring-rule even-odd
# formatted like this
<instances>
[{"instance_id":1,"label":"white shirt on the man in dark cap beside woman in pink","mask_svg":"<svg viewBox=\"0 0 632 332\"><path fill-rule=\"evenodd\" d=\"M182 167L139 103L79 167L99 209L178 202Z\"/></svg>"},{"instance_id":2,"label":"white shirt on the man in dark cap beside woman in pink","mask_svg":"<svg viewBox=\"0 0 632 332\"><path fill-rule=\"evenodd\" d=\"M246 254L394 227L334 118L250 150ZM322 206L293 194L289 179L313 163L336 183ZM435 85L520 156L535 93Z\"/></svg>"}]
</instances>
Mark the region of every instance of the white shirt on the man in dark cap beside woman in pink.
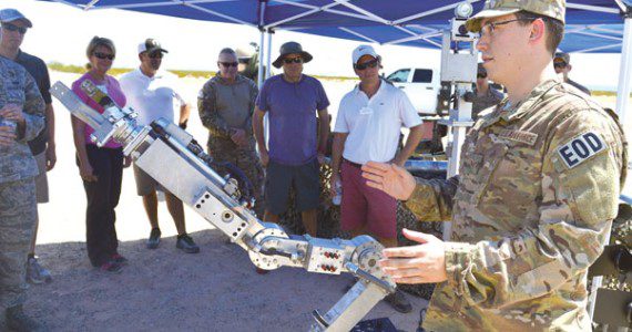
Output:
<instances>
[{"instance_id":1,"label":"white shirt on the man in dark cap beside woman in pink","mask_svg":"<svg viewBox=\"0 0 632 332\"><path fill-rule=\"evenodd\" d=\"M149 77L136 69L122 75L119 83L128 106L139 113L136 123L140 125L149 125L160 117L174 122L174 112L180 114L180 106L185 104L173 90L175 75L167 72L157 72Z\"/></svg>"}]
</instances>

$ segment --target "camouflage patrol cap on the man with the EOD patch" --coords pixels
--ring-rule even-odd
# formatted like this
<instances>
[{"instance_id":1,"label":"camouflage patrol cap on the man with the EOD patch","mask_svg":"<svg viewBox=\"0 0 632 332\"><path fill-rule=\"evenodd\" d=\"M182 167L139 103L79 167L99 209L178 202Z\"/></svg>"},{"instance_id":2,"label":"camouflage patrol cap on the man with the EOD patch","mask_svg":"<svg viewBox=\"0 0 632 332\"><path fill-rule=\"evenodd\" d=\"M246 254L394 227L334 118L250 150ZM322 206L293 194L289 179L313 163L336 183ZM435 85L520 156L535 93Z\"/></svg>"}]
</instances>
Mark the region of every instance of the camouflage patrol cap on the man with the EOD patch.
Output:
<instances>
[{"instance_id":1,"label":"camouflage patrol cap on the man with the EOD patch","mask_svg":"<svg viewBox=\"0 0 632 332\"><path fill-rule=\"evenodd\" d=\"M565 0L487 0L482 10L466 22L470 32L480 31L482 19L496 18L521 10L564 22Z\"/></svg>"}]
</instances>

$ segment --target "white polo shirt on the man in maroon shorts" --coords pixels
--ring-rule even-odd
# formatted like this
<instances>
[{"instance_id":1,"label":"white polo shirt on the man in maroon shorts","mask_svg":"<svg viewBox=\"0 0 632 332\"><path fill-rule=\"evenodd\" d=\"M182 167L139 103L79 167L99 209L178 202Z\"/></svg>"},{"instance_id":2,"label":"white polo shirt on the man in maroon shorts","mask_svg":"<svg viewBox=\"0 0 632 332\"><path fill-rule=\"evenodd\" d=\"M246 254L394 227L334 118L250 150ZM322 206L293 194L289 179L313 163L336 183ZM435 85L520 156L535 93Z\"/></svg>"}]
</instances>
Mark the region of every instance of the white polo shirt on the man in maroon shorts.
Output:
<instances>
[{"instance_id":1,"label":"white polo shirt on the man in maroon shorts","mask_svg":"<svg viewBox=\"0 0 632 332\"><path fill-rule=\"evenodd\" d=\"M345 159L366 164L387 163L395 158L401 127L421 124L421 118L406 93L381 81L369 100L359 84L340 101L335 133L349 133Z\"/></svg>"}]
</instances>

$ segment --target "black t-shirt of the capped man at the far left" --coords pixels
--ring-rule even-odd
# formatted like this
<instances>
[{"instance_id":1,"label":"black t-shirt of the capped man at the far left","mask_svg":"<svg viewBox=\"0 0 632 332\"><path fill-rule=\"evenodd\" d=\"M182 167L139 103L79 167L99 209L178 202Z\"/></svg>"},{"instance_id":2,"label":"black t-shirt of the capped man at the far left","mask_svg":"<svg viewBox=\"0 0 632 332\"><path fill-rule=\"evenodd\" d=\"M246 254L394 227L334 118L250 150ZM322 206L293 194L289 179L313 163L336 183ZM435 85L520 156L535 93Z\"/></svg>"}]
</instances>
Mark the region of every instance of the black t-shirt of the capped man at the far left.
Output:
<instances>
[{"instance_id":1,"label":"black t-shirt of the capped man at the far left","mask_svg":"<svg viewBox=\"0 0 632 332\"><path fill-rule=\"evenodd\" d=\"M49 70L47 64L38 56L33 56L29 53L24 53L21 50L16 58L16 62L21 64L31 76L35 80L38 87L40 89L40 93L44 98L44 103L51 104L51 93L49 92L51 87L51 80L49 77ZM47 122L48 123L48 122ZM29 147L31 148L31 153L34 155L39 155L47 149L47 142L49 139L49 129L47 126L42 129L42 132L38 135L38 137L33 138L33 141L29 142Z\"/></svg>"}]
</instances>

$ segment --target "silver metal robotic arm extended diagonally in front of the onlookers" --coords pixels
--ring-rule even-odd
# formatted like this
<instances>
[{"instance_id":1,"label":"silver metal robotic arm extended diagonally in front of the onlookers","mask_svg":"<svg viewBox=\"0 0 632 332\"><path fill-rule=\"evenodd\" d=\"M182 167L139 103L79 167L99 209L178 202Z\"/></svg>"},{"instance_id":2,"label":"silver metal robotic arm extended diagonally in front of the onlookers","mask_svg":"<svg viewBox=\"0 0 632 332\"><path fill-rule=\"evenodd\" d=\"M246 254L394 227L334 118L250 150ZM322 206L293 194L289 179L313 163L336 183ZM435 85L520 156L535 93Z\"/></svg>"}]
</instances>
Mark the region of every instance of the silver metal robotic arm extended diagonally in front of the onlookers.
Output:
<instances>
[{"instance_id":1,"label":"silver metal robotic arm extended diagonally in front of the onlookers","mask_svg":"<svg viewBox=\"0 0 632 332\"><path fill-rule=\"evenodd\" d=\"M164 118L151 126L136 125L132 108L116 106L92 82L84 81L81 89L104 107L103 114L83 104L61 82L51 87L51 94L95 129L92 142L98 146L110 139L122 144L123 153L132 156L137 167L244 248L256 267L274 270L286 266L358 277L358 282L327 313L314 311L316 323L310 331L349 331L395 291L395 282L377 264L383 247L371 237L343 240L292 236L276 224L258 220L251 210L254 203L248 181L238 169L215 163L177 125ZM228 175L221 176L216 168L224 168Z\"/></svg>"}]
</instances>

